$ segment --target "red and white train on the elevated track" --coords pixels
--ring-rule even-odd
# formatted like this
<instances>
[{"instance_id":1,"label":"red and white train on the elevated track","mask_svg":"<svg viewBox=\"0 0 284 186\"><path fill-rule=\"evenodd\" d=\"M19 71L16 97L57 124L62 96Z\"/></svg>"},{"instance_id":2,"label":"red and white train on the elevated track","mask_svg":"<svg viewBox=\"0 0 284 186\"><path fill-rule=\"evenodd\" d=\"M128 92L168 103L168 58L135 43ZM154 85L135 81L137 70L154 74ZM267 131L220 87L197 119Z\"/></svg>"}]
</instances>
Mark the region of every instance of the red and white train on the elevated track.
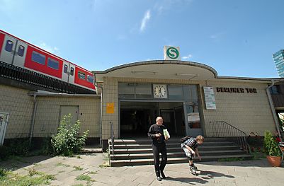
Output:
<instances>
[{"instance_id":1,"label":"red and white train on the elevated track","mask_svg":"<svg viewBox=\"0 0 284 186\"><path fill-rule=\"evenodd\" d=\"M91 71L0 30L0 61L95 91Z\"/></svg>"}]
</instances>

